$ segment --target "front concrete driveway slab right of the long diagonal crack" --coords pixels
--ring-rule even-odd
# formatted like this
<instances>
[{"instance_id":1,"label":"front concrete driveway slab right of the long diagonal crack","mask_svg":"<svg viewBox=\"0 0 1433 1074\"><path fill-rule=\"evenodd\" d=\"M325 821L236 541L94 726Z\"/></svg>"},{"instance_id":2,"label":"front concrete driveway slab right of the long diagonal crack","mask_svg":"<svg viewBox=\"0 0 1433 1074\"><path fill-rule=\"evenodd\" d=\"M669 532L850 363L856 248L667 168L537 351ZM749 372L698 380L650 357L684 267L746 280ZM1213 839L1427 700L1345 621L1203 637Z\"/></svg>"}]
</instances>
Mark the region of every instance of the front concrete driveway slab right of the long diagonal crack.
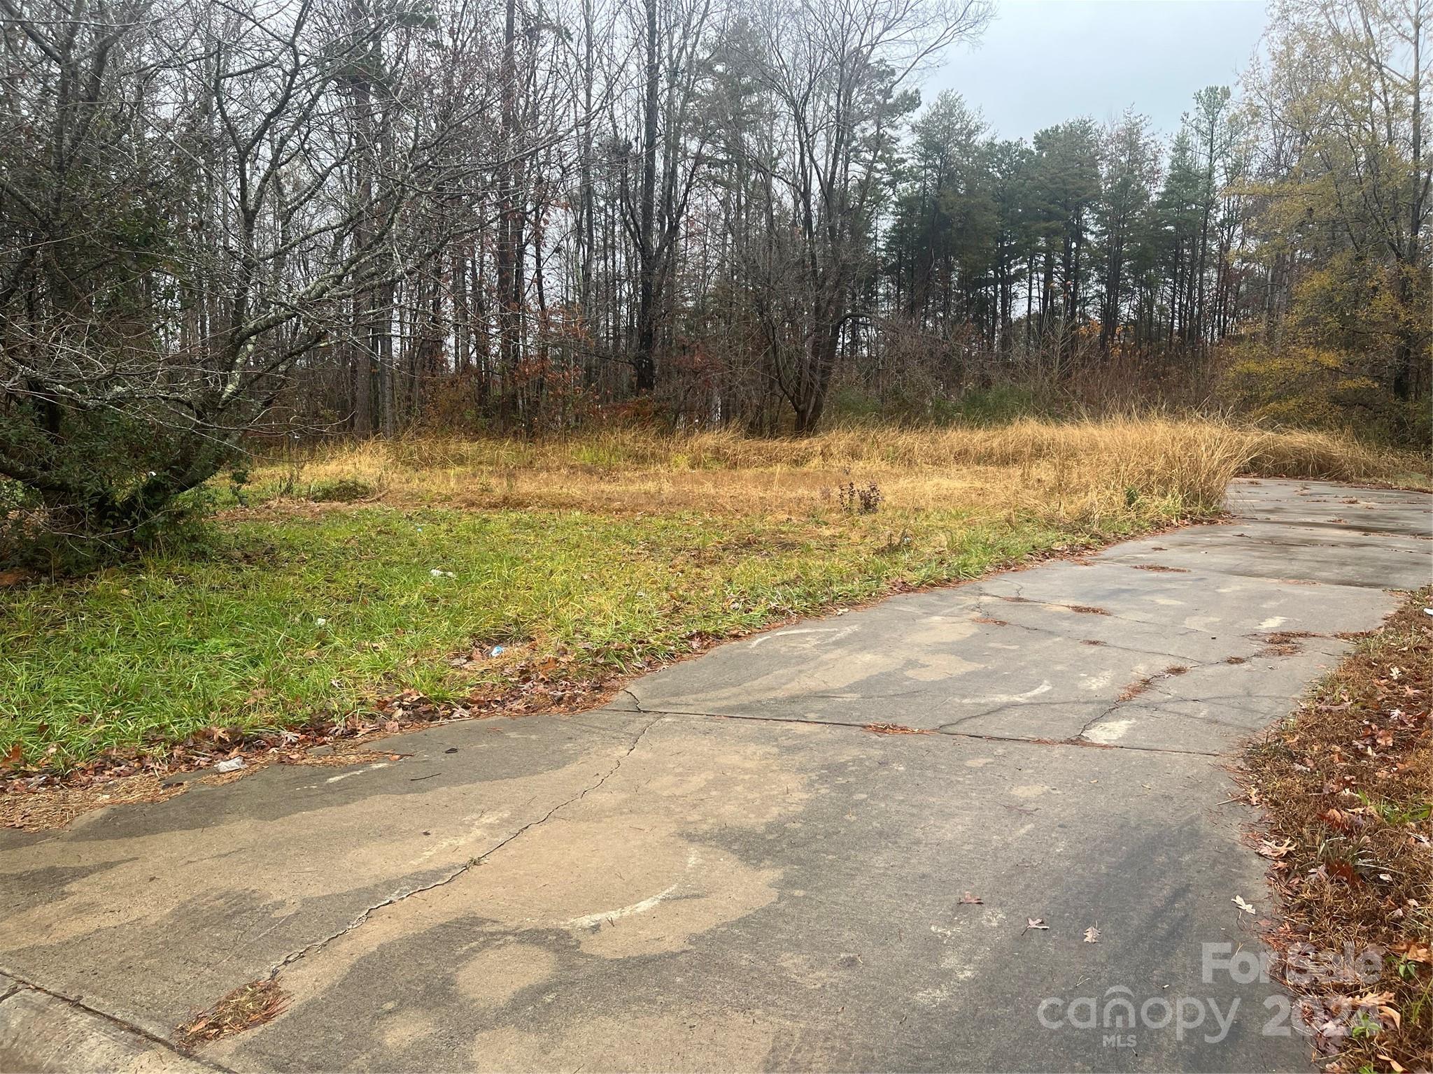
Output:
<instances>
[{"instance_id":1,"label":"front concrete driveway slab right of the long diagonal crack","mask_svg":"<svg viewBox=\"0 0 1433 1074\"><path fill-rule=\"evenodd\" d=\"M1111 1053L1042 1030L1040 998L1092 978L1221 1010L1267 994L1201 979L1201 942L1252 941L1231 894L1261 888L1257 858L1222 852L1244 811L1201 803L1207 782L1179 755L661 717L536 841L305 958L281 978L289 1011L209 1054L248 1070L1088 1068ZM1301 1058L1261 1022L1141 1058Z\"/></svg>"}]
</instances>

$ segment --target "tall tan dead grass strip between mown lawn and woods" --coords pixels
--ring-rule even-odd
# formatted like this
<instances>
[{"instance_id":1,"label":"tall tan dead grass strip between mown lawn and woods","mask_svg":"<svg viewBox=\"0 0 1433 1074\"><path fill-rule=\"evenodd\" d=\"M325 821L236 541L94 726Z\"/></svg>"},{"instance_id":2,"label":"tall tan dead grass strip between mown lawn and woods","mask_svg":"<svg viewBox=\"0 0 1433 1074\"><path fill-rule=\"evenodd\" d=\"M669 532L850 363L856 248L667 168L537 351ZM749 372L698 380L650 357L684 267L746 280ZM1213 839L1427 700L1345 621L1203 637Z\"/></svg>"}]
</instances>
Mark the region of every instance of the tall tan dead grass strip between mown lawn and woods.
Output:
<instances>
[{"instance_id":1,"label":"tall tan dead grass strip between mown lawn and woods","mask_svg":"<svg viewBox=\"0 0 1433 1074\"><path fill-rule=\"evenodd\" d=\"M396 504L794 513L848 481L896 510L1036 513L1098 526L1135 505L1218 510L1237 474L1391 480L1416 460L1351 438L1176 418L833 430L802 440L610 430L565 440L408 438L320 451L299 481L358 480ZM261 470L259 480L277 468Z\"/></svg>"}]
</instances>

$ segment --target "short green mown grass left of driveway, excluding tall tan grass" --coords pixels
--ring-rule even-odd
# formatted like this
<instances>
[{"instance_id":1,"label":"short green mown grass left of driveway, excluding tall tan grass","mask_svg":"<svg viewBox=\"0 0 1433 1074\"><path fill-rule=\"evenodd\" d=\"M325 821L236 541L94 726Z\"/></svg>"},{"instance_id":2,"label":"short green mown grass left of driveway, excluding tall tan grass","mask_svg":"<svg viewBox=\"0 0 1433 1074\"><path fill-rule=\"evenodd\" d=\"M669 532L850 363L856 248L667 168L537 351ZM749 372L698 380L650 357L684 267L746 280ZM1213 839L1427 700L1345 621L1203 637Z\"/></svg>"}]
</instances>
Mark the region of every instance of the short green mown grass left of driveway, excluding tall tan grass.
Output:
<instances>
[{"instance_id":1,"label":"short green mown grass left of driveway, excluding tall tan grass","mask_svg":"<svg viewBox=\"0 0 1433 1074\"><path fill-rule=\"evenodd\" d=\"M1103 534L962 511L264 510L199 553L0 590L0 755L63 769L211 726L342 717L401 689L453 699L559 653L573 679L631 672L694 634L973 577L1169 521L1161 510ZM474 642L510 653L454 670Z\"/></svg>"}]
</instances>

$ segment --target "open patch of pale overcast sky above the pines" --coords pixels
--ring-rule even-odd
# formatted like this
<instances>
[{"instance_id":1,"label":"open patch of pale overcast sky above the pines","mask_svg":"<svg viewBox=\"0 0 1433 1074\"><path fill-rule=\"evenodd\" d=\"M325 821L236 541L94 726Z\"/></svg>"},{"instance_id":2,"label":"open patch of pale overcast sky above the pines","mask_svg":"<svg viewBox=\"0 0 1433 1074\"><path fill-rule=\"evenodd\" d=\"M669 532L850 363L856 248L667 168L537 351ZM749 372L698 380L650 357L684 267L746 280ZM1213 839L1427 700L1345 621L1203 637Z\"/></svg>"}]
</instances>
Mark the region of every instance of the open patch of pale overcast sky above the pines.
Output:
<instances>
[{"instance_id":1,"label":"open patch of pale overcast sky above the pines","mask_svg":"<svg viewBox=\"0 0 1433 1074\"><path fill-rule=\"evenodd\" d=\"M1264 0L996 0L974 46L921 86L954 89L1002 137L1135 106L1172 133L1204 86L1235 86L1264 30Z\"/></svg>"}]
</instances>

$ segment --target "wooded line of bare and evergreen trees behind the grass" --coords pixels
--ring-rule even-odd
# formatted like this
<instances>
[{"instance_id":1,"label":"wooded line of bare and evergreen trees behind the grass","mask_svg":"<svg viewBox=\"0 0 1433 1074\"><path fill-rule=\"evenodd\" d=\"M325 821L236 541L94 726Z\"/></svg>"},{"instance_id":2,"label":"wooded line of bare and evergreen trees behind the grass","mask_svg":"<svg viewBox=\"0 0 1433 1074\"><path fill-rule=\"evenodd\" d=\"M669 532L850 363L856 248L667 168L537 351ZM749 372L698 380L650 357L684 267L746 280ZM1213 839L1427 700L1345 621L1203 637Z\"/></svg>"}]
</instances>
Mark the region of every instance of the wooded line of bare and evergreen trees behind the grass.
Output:
<instances>
[{"instance_id":1,"label":"wooded line of bare and evergreen trees behind the grass","mask_svg":"<svg viewBox=\"0 0 1433 1074\"><path fill-rule=\"evenodd\" d=\"M119 527L257 424L800 434L1231 334L1419 398L1424 7L1025 142L920 103L986 0L0 0L0 474Z\"/></svg>"}]
</instances>

